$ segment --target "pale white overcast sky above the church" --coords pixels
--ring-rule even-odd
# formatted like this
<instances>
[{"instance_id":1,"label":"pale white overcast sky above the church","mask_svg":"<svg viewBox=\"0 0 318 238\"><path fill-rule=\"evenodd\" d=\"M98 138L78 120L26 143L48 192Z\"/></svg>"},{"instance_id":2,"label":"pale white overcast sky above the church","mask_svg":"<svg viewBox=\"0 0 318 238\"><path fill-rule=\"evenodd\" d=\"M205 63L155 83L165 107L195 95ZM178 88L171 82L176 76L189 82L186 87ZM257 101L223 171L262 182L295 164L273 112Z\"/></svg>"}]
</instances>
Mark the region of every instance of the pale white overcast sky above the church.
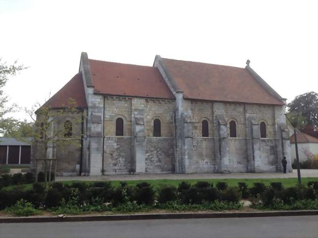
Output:
<instances>
[{"instance_id":1,"label":"pale white overcast sky above the church","mask_svg":"<svg viewBox=\"0 0 318 238\"><path fill-rule=\"evenodd\" d=\"M0 0L0 29L0 57L29 66L5 87L22 107L63 87L82 51L151 66L156 54L237 67L250 59L288 101L318 92L318 0Z\"/></svg>"}]
</instances>

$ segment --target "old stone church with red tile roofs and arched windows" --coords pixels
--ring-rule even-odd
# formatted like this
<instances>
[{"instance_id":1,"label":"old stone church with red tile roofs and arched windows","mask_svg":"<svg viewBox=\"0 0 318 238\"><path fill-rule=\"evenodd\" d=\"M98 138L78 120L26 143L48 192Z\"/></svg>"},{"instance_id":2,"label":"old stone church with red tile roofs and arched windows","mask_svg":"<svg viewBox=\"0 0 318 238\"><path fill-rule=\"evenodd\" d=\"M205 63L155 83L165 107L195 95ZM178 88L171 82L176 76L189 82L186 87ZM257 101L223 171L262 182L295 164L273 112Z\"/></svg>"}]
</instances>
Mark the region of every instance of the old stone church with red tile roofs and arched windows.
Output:
<instances>
[{"instance_id":1,"label":"old stone church with red tile roofs and arched windows","mask_svg":"<svg viewBox=\"0 0 318 238\"><path fill-rule=\"evenodd\" d=\"M46 105L68 98L80 147L55 148L62 175L291 172L286 100L245 68L156 56L153 66L92 60ZM39 156L33 146L31 163Z\"/></svg>"}]
</instances>

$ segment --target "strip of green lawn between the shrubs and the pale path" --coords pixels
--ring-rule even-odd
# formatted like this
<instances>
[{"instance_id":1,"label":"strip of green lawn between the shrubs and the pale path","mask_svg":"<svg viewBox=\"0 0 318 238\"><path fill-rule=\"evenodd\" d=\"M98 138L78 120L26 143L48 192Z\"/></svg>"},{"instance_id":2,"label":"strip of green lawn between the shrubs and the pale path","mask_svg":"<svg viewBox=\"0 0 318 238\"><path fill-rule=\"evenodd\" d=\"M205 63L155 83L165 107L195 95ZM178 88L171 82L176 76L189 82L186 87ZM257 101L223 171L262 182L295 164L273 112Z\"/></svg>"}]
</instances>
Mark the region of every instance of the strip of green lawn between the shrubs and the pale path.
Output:
<instances>
[{"instance_id":1,"label":"strip of green lawn between the shrubs and the pale path","mask_svg":"<svg viewBox=\"0 0 318 238\"><path fill-rule=\"evenodd\" d=\"M102 180L106 182L107 180ZM228 187L237 187L238 182L245 182L248 184L249 187L253 186L253 183L255 182L262 182L265 183L265 185L270 185L271 182L281 182L284 187L294 187L298 184L297 178L226 178L226 179L157 179L157 180L114 180L110 181L113 186L118 186L120 181L125 181L128 183L128 185L136 185L139 182L148 182L152 184L155 188L160 187L162 185L173 185L178 186L182 181L188 181L192 184L195 184L197 181L208 181L210 183L213 183L214 186L217 182L227 182ZM302 185L307 185L308 181L318 181L318 177L307 177L302 178L301 182ZM92 184L95 181L78 181L78 180L71 180L71 181L62 181L64 184L71 184L73 182L83 182L87 184ZM25 184L25 185L15 185L15 186L9 186L6 188L3 188L5 190L11 190L17 187L21 187L24 190L32 188L32 184Z\"/></svg>"}]
</instances>

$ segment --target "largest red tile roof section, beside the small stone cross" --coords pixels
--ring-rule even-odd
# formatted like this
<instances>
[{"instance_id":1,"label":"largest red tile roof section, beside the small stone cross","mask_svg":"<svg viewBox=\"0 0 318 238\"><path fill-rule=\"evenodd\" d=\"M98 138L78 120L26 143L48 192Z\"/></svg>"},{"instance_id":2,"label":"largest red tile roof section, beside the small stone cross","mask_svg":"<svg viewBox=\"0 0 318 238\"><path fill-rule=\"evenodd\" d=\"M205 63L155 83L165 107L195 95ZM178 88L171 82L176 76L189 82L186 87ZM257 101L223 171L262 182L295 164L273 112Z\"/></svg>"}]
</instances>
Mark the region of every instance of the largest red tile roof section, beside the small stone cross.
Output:
<instances>
[{"instance_id":1,"label":"largest red tile roof section, beside the small stone cross","mask_svg":"<svg viewBox=\"0 0 318 238\"><path fill-rule=\"evenodd\" d=\"M284 103L262 87L246 68L162 59L188 99L241 103Z\"/></svg>"}]
</instances>

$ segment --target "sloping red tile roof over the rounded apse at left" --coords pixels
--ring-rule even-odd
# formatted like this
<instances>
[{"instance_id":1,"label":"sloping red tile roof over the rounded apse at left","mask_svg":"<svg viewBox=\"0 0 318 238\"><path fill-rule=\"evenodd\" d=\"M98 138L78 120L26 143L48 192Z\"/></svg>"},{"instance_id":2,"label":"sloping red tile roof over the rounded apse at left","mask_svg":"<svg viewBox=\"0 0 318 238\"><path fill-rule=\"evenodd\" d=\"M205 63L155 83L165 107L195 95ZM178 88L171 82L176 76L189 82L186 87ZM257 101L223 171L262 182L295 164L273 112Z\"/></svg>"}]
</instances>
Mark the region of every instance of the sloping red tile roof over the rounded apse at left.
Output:
<instances>
[{"instance_id":1,"label":"sloping red tile roof over the rounded apse at left","mask_svg":"<svg viewBox=\"0 0 318 238\"><path fill-rule=\"evenodd\" d=\"M69 98L75 100L76 107L87 108L82 73L75 74L75 76L49 100L47 100L42 107L49 106L51 108L65 108L70 106L68 105Z\"/></svg>"}]
</instances>

